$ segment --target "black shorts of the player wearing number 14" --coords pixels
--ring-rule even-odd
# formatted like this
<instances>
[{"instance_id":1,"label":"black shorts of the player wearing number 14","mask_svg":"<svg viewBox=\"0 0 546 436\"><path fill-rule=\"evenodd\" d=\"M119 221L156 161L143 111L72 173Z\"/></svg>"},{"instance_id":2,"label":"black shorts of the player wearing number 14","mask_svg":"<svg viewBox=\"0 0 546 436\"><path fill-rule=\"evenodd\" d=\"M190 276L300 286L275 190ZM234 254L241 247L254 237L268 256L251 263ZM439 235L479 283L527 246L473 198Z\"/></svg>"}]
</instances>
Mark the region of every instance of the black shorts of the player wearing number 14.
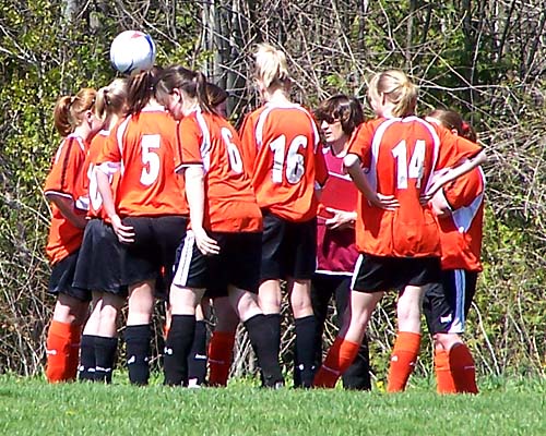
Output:
<instances>
[{"instance_id":1,"label":"black shorts of the player wearing number 14","mask_svg":"<svg viewBox=\"0 0 546 436\"><path fill-rule=\"evenodd\" d=\"M440 257L383 257L360 254L351 289L359 292L402 291L406 286L438 283Z\"/></svg>"}]
</instances>

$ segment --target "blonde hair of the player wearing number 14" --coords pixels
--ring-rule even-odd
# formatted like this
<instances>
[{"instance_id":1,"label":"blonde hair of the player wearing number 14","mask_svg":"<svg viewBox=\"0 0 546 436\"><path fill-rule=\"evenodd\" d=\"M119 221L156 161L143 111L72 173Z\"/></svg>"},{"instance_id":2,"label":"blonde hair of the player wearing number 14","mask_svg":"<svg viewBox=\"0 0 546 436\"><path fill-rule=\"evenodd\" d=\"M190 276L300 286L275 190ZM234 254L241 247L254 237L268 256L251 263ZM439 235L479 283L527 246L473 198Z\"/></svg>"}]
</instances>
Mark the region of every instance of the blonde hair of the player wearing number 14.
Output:
<instances>
[{"instance_id":1,"label":"blonde hair of the player wearing number 14","mask_svg":"<svg viewBox=\"0 0 546 436\"><path fill-rule=\"evenodd\" d=\"M375 74L368 85L368 96L380 99L384 96L394 104L394 117L408 117L417 104L417 86L400 70L389 70Z\"/></svg>"}]
</instances>

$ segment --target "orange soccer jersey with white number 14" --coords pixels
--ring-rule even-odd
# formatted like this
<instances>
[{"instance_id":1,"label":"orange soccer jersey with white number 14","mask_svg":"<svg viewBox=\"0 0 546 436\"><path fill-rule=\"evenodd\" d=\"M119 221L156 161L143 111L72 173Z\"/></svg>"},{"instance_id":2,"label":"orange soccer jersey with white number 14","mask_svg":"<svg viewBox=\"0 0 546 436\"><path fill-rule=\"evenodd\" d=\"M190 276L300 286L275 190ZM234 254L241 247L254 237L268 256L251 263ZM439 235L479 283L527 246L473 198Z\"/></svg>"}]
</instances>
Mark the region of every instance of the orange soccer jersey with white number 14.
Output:
<instances>
[{"instance_id":1,"label":"orange soccer jersey with white number 14","mask_svg":"<svg viewBox=\"0 0 546 436\"><path fill-rule=\"evenodd\" d=\"M376 256L440 256L438 223L419 196L436 171L455 166L480 147L417 118L377 119L353 135L349 154L360 158L372 189L394 195L393 211L372 207L359 195L357 247Z\"/></svg>"}]
</instances>

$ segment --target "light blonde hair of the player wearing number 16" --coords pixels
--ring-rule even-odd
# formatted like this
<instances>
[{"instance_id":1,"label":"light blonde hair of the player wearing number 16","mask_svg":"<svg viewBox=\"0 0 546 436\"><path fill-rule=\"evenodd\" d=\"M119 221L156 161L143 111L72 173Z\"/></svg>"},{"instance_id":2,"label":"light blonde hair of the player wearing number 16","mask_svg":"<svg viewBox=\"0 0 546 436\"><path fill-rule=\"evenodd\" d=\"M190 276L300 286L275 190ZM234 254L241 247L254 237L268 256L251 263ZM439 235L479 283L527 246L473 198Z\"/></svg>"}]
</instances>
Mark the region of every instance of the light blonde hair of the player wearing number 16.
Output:
<instances>
[{"instance_id":1,"label":"light blonde hair of the player wearing number 16","mask_svg":"<svg viewBox=\"0 0 546 436\"><path fill-rule=\"evenodd\" d=\"M259 44L254 51L254 77L265 89L283 87L289 88L292 84L286 55L270 44Z\"/></svg>"}]
</instances>

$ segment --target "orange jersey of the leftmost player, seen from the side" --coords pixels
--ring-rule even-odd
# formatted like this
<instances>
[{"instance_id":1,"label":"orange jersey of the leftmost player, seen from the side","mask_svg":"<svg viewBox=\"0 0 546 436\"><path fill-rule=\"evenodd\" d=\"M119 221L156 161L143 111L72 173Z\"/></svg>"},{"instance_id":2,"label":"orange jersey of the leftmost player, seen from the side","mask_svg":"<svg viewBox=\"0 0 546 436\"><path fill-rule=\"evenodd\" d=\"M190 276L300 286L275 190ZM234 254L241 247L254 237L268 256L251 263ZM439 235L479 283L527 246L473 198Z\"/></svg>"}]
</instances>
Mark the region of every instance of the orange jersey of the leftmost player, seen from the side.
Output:
<instances>
[{"instance_id":1,"label":"orange jersey of the leftmost player, seen from the side","mask_svg":"<svg viewBox=\"0 0 546 436\"><path fill-rule=\"evenodd\" d=\"M86 154L87 144L81 137L74 134L67 136L57 150L44 186L44 194L55 194L72 199L74 207L82 214L88 207L83 173ZM51 211L46 253L51 264L56 264L80 249L83 229L79 229L64 218L55 204L51 205Z\"/></svg>"}]
</instances>

